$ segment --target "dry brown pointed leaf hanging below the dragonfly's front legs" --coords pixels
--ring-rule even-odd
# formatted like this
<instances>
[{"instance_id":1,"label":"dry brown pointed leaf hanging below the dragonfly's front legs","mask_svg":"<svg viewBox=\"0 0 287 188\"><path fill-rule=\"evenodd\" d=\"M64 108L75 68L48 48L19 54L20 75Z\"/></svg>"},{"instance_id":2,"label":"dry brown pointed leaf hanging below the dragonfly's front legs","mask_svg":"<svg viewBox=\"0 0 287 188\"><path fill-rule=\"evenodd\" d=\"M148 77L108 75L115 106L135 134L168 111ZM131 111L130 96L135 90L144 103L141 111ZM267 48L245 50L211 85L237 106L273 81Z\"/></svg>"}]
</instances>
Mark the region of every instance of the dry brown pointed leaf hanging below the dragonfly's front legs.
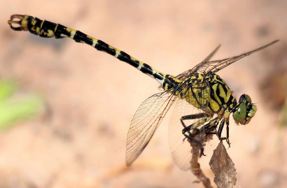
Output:
<instances>
[{"instance_id":1,"label":"dry brown pointed leaf hanging below the dragonfly's front legs","mask_svg":"<svg viewBox=\"0 0 287 188\"><path fill-rule=\"evenodd\" d=\"M209 165L215 175L214 183L217 187L227 188L235 185L236 169L222 141L220 141L217 148L213 151Z\"/></svg>"}]
</instances>

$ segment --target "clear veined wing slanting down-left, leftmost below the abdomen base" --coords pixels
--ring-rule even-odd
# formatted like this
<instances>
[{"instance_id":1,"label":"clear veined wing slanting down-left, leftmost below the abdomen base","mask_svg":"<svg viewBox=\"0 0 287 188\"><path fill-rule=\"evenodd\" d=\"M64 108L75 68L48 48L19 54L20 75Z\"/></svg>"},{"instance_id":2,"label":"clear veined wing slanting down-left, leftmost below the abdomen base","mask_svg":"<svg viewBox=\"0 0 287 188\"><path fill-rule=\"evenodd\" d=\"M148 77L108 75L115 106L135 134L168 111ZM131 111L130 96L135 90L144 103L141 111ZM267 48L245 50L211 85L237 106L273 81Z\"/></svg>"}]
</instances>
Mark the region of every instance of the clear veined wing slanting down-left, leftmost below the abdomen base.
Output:
<instances>
[{"instance_id":1,"label":"clear veined wing slanting down-left, leftmost below the abdomen base","mask_svg":"<svg viewBox=\"0 0 287 188\"><path fill-rule=\"evenodd\" d=\"M127 135L126 164L141 154L176 96L167 91L147 98L137 109Z\"/></svg>"}]
</instances>

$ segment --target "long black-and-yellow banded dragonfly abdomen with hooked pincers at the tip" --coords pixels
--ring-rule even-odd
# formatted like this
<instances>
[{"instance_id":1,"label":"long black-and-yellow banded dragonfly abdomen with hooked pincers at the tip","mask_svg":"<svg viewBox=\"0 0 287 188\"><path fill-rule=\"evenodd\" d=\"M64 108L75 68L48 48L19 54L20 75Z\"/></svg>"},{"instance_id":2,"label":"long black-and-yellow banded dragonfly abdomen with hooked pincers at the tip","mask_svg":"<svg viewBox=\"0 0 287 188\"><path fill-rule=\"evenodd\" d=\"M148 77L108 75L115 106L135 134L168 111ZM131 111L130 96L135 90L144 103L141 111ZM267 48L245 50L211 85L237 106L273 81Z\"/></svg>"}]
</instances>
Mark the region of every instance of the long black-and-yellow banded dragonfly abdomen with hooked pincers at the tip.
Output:
<instances>
[{"instance_id":1,"label":"long black-and-yellow banded dragonfly abdomen with hooked pincers at the tip","mask_svg":"<svg viewBox=\"0 0 287 188\"><path fill-rule=\"evenodd\" d=\"M20 21L13 21L14 18L19 18ZM149 75L150 77L158 81L163 86L164 89L172 88L176 85L177 82L179 82L179 80L174 78L173 76L162 73L154 69L150 65L131 57L124 51L116 49L115 47L108 45L102 40L93 38L87 34L84 34L79 30L74 30L61 24L55 24L53 22L49 22L46 20L40 20L39 18L34 18L29 15L12 15L11 20L9 20L8 23L20 24L20 27L13 27L12 25L10 25L13 30L29 31L32 34L46 38L69 37L75 40L75 42L86 43L90 46L93 46L98 51L106 52L116 57L120 61L124 61L129 65L137 68L142 73Z\"/></svg>"}]
</instances>

